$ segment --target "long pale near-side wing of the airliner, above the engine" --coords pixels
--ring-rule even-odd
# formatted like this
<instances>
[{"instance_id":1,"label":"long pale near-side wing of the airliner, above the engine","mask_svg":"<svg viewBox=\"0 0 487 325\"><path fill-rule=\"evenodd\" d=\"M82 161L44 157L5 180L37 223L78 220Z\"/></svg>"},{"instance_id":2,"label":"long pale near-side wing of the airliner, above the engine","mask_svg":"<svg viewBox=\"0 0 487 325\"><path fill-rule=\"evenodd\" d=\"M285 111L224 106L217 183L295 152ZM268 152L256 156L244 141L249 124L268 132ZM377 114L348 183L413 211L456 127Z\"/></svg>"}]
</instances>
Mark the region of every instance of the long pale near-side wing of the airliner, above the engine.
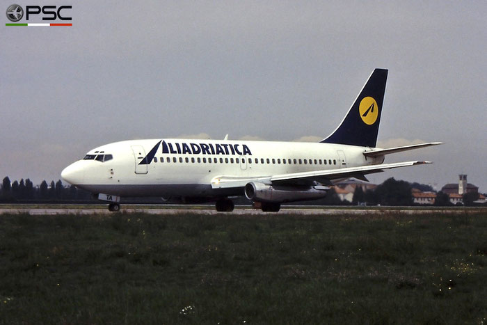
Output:
<instances>
[{"instance_id":1,"label":"long pale near-side wing of the airliner, above the engine","mask_svg":"<svg viewBox=\"0 0 487 325\"><path fill-rule=\"evenodd\" d=\"M392 164L379 164L340 169L328 169L322 171L306 171L301 173L290 173L282 175L269 175L262 177L231 177L219 176L211 180L213 189L228 189L232 187L245 187L248 182L262 182L264 184L305 184L313 181L323 184L330 184L332 180L348 177L365 177L366 174L380 173L384 169L399 168L431 164L431 161L405 161Z\"/></svg>"}]
</instances>

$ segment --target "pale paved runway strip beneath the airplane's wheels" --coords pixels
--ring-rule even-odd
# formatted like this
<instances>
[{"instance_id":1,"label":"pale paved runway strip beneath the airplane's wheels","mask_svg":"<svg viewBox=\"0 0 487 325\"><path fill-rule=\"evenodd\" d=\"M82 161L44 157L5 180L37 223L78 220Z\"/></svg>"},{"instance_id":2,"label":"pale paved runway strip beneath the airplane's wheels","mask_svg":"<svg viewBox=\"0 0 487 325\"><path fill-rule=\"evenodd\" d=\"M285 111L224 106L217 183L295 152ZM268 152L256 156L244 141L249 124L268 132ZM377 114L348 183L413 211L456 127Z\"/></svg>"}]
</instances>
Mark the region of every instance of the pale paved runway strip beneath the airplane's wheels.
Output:
<instances>
[{"instance_id":1,"label":"pale paved runway strip beneath the airplane's wheels","mask_svg":"<svg viewBox=\"0 0 487 325\"><path fill-rule=\"evenodd\" d=\"M486 207L297 207L285 206L280 209L280 212L262 212L260 209L252 207L236 207L233 212L216 212L214 207L208 205L122 205L120 212L110 212L102 205L95 205L93 207L86 205L0 205L0 215L2 214L29 214L31 216L42 215L63 215L63 214L158 214L158 215L174 215L174 214L197 214L197 215L216 215L216 214L234 214L234 215L277 215L277 214L295 214L295 215L324 215L324 216L339 216L344 214L350 215L367 215L367 214L458 214L469 212L485 212Z\"/></svg>"}]
</instances>

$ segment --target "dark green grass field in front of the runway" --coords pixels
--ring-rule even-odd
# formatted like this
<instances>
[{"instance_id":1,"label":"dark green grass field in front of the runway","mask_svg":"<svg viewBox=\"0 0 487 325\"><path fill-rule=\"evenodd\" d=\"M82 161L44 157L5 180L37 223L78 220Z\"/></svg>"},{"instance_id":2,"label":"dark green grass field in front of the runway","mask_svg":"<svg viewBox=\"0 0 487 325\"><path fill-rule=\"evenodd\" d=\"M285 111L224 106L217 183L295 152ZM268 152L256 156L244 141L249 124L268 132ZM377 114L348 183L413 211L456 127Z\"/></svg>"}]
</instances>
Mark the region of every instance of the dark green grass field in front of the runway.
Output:
<instances>
[{"instance_id":1,"label":"dark green grass field in front of the runway","mask_svg":"<svg viewBox=\"0 0 487 325\"><path fill-rule=\"evenodd\" d=\"M486 324L487 214L0 216L1 324Z\"/></svg>"}]
</instances>

